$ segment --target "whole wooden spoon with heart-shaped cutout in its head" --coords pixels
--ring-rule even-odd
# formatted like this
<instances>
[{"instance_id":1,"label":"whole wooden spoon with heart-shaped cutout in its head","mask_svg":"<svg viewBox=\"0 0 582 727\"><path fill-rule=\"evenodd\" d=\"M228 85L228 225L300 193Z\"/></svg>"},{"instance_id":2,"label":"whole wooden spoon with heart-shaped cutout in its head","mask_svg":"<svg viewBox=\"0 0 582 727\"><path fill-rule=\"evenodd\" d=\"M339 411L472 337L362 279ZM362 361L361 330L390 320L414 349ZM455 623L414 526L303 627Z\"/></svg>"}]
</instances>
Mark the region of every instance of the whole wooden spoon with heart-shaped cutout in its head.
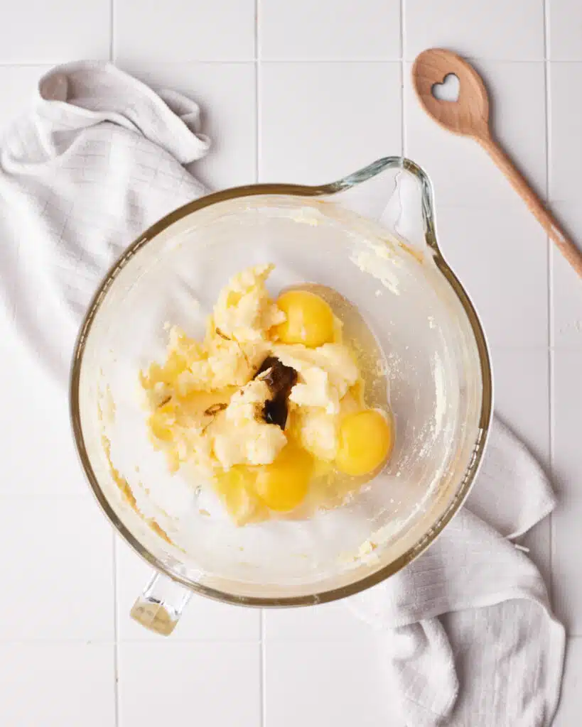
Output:
<instances>
[{"instance_id":1,"label":"whole wooden spoon with heart-shaped cutout in its head","mask_svg":"<svg viewBox=\"0 0 582 727\"><path fill-rule=\"evenodd\" d=\"M439 100L434 97L436 85L442 84L446 76L453 74L459 81L456 101ZM522 196L538 222L574 270L582 277L582 252L568 238L542 204L538 195L516 169L509 156L493 139L489 126L489 98L481 76L472 65L449 50L431 48L416 57L412 66L412 83L420 105L445 129L455 134L473 137L485 149L495 164L505 174L514 190Z\"/></svg>"}]
</instances>

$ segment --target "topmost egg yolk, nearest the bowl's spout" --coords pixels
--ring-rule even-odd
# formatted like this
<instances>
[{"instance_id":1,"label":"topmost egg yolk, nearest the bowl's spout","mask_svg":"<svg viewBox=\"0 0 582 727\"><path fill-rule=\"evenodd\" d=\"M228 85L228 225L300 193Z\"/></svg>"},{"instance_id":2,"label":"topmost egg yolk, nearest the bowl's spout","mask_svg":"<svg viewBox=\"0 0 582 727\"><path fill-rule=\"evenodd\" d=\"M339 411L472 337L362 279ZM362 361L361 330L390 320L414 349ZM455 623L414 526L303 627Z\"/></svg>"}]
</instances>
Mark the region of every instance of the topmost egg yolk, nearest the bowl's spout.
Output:
<instances>
[{"instance_id":1,"label":"topmost egg yolk, nearest the bowl's spout","mask_svg":"<svg viewBox=\"0 0 582 727\"><path fill-rule=\"evenodd\" d=\"M277 305L287 316L275 329L283 343L303 343L316 348L333 340L332 309L319 295L307 290L290 290L279 296Z\"/></svg>"}]
</instances>

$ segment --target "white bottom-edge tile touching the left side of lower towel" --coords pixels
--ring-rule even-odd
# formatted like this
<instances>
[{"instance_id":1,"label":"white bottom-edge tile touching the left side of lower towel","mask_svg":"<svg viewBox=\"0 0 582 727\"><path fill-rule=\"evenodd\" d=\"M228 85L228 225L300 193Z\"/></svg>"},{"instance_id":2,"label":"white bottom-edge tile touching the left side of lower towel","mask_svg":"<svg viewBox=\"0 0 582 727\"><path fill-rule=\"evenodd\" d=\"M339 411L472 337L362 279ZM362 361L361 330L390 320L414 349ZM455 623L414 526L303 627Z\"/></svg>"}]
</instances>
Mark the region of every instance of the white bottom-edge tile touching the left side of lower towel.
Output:
<instances>
[{"instance_id":1,"label":"white bottom-edge tile touching the left side of lower towel","mask_svg":"<svg viewBox=\"0 0 582 727\"><path fill-rule=\"evenodd\" d=\"M377 634L355 641L270 642L266 648L268 727L394 724Z\"/></svg>"}]
</instances>

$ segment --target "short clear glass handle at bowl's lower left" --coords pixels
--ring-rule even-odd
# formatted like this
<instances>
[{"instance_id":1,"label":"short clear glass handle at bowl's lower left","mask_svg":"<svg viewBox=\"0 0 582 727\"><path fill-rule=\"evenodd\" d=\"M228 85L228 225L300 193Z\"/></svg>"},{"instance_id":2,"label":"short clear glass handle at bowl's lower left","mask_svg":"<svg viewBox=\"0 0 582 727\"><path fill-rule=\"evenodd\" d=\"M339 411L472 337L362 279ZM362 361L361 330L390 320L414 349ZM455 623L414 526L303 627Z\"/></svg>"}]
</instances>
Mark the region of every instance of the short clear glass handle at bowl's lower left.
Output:
<instances>
[{"instance_id":1,"label":"short clear glass handle at bowl's lower left","mask_svg":"<svg viewBox=\"0 0 582 727\"><path fill-rule=\"evenodd\" d=\"M162 574L150 579L129 612L132 619L150 631L169 636L180 620L192 593Z\"/></svg>"}]
</instances>

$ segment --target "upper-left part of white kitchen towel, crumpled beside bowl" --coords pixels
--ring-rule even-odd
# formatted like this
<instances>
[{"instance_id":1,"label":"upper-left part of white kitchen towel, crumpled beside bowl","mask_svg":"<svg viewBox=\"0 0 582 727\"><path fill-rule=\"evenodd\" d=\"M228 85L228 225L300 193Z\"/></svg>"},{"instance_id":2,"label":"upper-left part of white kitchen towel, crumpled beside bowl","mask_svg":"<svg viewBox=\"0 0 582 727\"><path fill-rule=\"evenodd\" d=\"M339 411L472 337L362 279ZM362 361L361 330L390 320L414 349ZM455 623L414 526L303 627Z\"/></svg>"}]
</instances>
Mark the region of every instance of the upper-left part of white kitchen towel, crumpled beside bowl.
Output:
<instances>
[{"instance_id":1,"label":"upper-left part of white kitchen towel, crumpled beside bowl","mask_svg":"<svg viewBox=\"0 0 582 727\"><path fill-rule=\"evenodd\" d=\"M199 108L107 63L39 81L0 156L0 294L17 331L61 380L98 282L121 250L204 193L186 166L207 152Z\"/></svg>"}]
</instances>

